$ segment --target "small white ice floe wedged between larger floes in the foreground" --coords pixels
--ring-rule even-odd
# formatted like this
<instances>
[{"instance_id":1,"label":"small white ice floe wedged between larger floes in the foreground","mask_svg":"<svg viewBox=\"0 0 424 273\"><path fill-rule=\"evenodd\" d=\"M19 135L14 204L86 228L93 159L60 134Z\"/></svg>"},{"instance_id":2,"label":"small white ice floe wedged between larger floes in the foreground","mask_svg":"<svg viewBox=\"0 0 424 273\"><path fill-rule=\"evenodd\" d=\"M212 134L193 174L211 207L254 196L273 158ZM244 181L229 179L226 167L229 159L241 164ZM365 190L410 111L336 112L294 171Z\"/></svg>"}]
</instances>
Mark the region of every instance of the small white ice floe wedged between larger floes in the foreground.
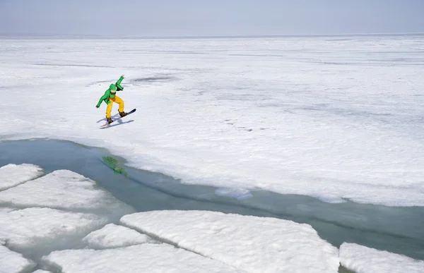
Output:
<instances>
[{"instance_id":1,"label":"small white ice floe wedged between larger floes in the foreground","mask_svg":"<svg viewBox=\"0 0 424 273\"><path fill-rule=\"evenodd\" d=\"M134 229L116 224L107 224L102 229L93 231L84 237L83 241L88 243L88 247L97 249L118 248L154 242L146 234L141 234Z\"/></svg>"}]
</instances>

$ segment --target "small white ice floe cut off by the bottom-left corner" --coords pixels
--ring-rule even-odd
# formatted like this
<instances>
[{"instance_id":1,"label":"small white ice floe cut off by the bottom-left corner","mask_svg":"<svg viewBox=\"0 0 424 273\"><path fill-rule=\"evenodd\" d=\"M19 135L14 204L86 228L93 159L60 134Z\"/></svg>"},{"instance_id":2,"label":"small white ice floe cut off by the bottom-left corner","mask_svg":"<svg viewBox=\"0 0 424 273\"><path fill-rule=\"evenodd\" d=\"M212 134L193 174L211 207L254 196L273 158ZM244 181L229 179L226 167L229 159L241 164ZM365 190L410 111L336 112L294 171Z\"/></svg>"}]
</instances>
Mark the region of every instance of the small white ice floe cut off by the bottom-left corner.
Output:
<instances>
[{"instance_id":1,"label":"small white ice floe cut off by the bottom-left corner","mask_svg":"<svg viewBox=\"0 0 424 273\"><path fill-rule=\"evenodd\" d=\"M35 262L0 245L0 273L29 272L33 267L35 267Z\"/></svg>"}]
</instances>

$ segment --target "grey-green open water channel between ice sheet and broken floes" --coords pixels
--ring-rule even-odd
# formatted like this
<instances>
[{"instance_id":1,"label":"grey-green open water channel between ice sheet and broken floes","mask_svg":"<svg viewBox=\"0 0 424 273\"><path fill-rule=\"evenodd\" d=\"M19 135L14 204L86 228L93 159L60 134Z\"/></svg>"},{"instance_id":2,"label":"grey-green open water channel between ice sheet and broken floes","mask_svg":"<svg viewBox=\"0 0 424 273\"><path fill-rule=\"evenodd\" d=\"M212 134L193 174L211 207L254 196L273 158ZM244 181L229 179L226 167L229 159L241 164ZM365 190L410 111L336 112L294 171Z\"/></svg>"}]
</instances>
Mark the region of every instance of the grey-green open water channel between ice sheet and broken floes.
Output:
<instances>
[{"instance_id":1,"label":"grey-green open water channel between ice sheet and broken floes","mask_svg":"<svg viewBox=\"0 0 424 273\"><path fill-rule=\"evenodd\" d=\"M276 217L310 224L319 236L340 246L358 243L424 260L424 207L385 207L354 202L331 204L302 195L264 190L250 198L216 194L218 188L189 186L175 178L124 167L128 177L114 174L102 157L107 150L58 140L0 142L0 166L30 163L46 173L69 169L97 181L116 198L139 212L150 210L211 210ZM115 157L123 165L125 160Z\"/></svg>"}]
</instances>

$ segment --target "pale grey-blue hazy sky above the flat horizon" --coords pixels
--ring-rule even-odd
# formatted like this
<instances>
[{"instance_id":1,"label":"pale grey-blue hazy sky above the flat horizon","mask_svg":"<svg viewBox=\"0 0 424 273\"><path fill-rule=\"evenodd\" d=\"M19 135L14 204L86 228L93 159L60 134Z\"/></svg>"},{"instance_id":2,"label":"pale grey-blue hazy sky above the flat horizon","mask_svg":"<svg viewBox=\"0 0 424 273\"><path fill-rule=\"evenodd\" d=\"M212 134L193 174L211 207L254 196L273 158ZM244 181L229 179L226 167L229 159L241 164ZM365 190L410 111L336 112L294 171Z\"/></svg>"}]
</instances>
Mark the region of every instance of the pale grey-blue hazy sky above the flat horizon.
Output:
<instances>
[{"instance_id":1,"label":"pale grey-blue hazy sky above the flat horizon","mask_svg":"<svg viewBox=\"0 0 424 273\"><path fill-rule=\"evenodd\" d=\"M424 32L424 0L0 0L8 35Z\"/></svg>"}]
</instances>

